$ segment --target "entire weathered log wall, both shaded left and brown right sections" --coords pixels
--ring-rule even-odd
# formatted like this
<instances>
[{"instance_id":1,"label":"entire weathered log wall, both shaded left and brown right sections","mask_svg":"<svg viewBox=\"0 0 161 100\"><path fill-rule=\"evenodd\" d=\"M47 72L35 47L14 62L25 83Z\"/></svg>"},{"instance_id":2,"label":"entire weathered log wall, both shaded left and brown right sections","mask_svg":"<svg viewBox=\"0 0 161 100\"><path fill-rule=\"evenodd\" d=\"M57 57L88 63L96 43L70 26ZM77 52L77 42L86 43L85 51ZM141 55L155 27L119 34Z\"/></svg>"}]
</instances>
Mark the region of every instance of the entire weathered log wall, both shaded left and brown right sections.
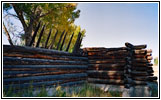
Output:
<instances>
[{"instance_id":1,"label":"entire weathered log wall, both shaded left and brown right sections","mask_svg":"<svg viewBox=\"0 0 161 100\"><path fill-rule=\"evenodd\" d=\"M27 46L3 46L3 85L8 89L89 83L146 85L153 76L152 50L125 43L120 48L84 48L68 53ZM83 52L82 52L83 51Z\"/></svg>"}]
</instances>

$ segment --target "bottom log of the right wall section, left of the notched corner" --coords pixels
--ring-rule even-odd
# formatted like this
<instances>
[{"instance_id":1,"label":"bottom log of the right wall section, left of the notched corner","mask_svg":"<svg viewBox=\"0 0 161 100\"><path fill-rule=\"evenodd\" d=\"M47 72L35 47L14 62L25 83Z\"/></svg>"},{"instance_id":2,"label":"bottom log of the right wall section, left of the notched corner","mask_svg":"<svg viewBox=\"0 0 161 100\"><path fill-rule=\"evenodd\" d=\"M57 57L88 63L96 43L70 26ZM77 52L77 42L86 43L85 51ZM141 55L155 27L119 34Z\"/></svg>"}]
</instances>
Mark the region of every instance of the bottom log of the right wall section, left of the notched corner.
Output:
<instances>
[{"instance_id":1,"label":"bottom log of the right wall section, left of the notched corner","mask_svg":"<svg viewBox=\"0 0 161 100\"><path fill-rule=\"evenodd\" d=\"M96 78L88 78L88 82L90 83L101 83L101 84L124 84L123 80L115 80L115 79L96 79Z\"/></svg>"}]
</instances>

